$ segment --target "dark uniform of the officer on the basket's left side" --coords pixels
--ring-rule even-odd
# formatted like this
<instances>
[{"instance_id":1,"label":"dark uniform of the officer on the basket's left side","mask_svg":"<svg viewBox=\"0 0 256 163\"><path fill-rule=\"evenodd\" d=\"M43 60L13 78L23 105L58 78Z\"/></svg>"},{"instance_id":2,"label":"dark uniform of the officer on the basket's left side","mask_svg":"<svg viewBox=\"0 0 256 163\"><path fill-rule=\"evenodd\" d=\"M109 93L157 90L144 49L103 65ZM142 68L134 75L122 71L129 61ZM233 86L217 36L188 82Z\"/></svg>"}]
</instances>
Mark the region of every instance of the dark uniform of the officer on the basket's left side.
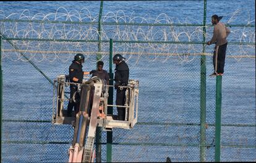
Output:
<instances>
[{"instance_id":1,"label":"dark uniform of the officer on the basket's left side","mask_svg":"<svg viewBox=\"0 0 256 163\"><path fill-rule=\"evenodd\" d=\"M82 70L82 64L78 64L75 61L72 61L72 64L69 66L69 80L70 82L74 83L82 83L83 81L83 70ZM78 78L79 81L73 81L73 78ZM79 111L79 103L80 103L80 97L79 93L76 93L76 102L72 101L72 97L77 91L77 85L70 85L70 100L69 100L69 105L67 106L67 116L71 117L71 112L74 107L75 114Z\"/></svg>"}]
</instances>

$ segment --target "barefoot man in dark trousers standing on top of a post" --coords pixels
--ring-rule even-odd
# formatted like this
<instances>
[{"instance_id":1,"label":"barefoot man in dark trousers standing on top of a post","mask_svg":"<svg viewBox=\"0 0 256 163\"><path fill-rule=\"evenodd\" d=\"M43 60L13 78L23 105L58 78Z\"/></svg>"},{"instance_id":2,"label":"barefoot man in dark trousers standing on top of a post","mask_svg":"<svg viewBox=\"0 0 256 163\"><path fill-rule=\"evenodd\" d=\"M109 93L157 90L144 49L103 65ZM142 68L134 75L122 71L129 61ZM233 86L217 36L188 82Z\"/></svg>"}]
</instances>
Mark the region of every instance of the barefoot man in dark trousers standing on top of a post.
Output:
<instances>
[{"instance_id":1,"label":"barefoot man in dark trousers standing on top of a post","mask_svg":"<svg viewBox=\"0 0 256 163\"><path fill-rule=\"evenodd\" d=\"M216 75L222 76L224 73L226 49L228 45L226 38L228 37L230 30L224 25L224 23L220 22L221 19L222 17L218 17L218 15L213 15L211 17L211 23L214 25L213 37L207 42L208 45L215 44L213 52L214 72L210 75L211 77Z\"/></svg>"}]
</instances>

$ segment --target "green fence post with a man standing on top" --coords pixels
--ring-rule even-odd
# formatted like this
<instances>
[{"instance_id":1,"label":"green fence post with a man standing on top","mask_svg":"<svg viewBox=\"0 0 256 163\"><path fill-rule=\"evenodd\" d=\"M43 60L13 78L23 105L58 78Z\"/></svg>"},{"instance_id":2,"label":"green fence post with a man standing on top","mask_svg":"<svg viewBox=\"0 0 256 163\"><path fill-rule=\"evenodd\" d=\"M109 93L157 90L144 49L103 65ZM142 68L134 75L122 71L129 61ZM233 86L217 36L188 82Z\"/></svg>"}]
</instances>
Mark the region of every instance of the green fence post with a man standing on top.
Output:
<instances>
[{"instance_id":1,"label":"green fence post with a man standing on top","mask_svg":"<svg viewBox=\"0 0 256 163\"><path fill-rule=\"evenodd\" d=\"M215 111L215 162L221 156L221 85L222 76L216 77L216 111Z\"/></svg>"}]
</instances>

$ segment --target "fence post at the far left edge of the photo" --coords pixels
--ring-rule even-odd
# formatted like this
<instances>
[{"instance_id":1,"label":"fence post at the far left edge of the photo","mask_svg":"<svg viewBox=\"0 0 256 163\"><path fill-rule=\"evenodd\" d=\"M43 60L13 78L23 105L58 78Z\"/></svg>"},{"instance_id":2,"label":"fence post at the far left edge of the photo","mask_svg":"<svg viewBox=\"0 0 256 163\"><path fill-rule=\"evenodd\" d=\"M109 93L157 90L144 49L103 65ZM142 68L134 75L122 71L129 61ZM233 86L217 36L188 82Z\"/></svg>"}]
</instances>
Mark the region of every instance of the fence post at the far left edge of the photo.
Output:
<instances>
[{"instance_id":1,"label":"fence post at the far left edge of the photo","mask_svg":"<svg viewBox=\"0 0 256 163\"><path fill-rule=\"evenodd\" d=\"M1 147L0 151L2 152L2 35L0 35L0 123L1 123ZM2 161L2 154L1 154Z\"/></svg>"}]
</instances>

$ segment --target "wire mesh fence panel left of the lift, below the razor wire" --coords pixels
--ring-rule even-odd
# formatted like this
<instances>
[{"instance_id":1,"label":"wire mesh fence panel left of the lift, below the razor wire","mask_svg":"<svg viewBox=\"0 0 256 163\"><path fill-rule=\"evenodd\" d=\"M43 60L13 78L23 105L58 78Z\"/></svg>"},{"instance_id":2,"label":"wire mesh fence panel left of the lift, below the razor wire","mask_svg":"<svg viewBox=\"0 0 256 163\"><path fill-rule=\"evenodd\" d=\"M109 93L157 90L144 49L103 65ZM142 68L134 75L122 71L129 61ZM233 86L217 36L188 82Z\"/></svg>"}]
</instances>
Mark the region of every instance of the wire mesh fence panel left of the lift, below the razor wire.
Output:
<instances>
[{"instance_id":1,"label":"wire mesh fence panel left of the lift, below the razor wire","mask_svg":"<svg viewBox=\"0 0 256 163\"><path fill-rule=\"evenodd\" d=\"M15 44L18 44L17 42L19 41L16 41ZM11 43L13 42L11 41ZM19 150L19 154L12 157L12 161L65 162L68 159L67 150L72 142L74 129L70 125L53 125L51 123L53 113L51 81L60 74L68 74L68 67L74 55L63 52L58 53L59 58L52 62L45 61L45 59L39 61L37 59L41 57L40 55L33 54L31 51L22 52L22 46L19 46L19 49L16 49L18 52L15 52L11 43L6 40L2 41L3 49L13 50L4 52L6 57L2 60L3 88L5 88L1 128L2 154L4 156L2 161L9 162L11 155L15 155L15 150ZM41 44L39 41L23 41L23 44L26 43L32 47L32 51L38 47L32 45ZM57 44L53 51L59 50L59 43L49 44L53 46ZM69 44L69 48L72 48L72 45L74 44ZM97 44L89 43L88 45L95 47ZM20 58L14 59L15 54ZM46 53L42 52L42 54ZM69 55L71 56L69 61L62 61L61 57L69 57ZM29 56L32 57L25 58ZM95 56L93 54L87 56L83 70L95 69ZM106 59L102 60L105 60L106 67L108 67ZM65 106L67 107L67 104Z\"/></svg>"}]
</instances>

